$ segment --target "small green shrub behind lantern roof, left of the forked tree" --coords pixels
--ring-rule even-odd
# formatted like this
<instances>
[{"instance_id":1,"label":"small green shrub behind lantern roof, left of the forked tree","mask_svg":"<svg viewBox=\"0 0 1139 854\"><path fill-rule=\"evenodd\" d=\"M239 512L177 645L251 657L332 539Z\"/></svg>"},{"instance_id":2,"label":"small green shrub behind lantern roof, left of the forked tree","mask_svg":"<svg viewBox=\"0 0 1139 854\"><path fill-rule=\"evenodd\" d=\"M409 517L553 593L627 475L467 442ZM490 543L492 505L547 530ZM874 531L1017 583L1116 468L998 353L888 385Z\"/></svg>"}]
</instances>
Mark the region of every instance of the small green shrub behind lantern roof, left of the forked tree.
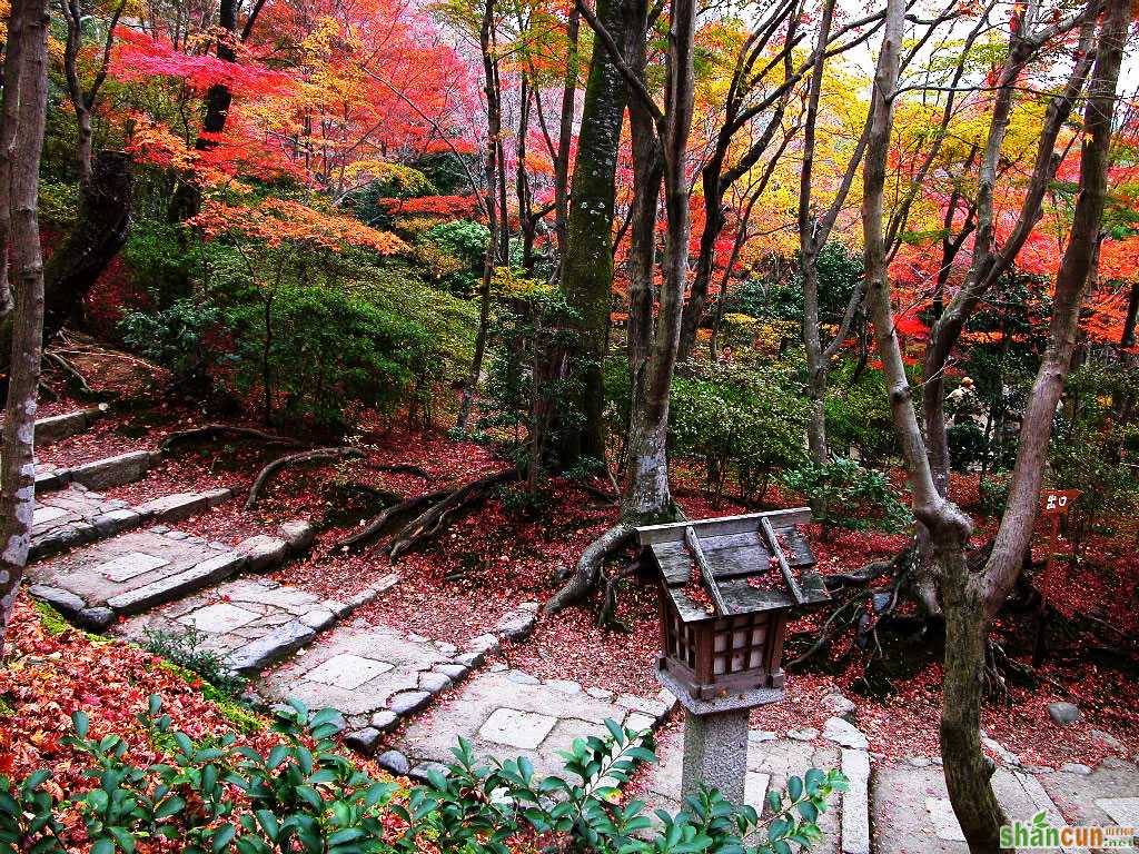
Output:
<instances>
[{"instance_id":1,"label":"small green shrub behind lantern roof, left of the forked tree","mask_svg":"<svg viewBox=\"0 0 1139 854\"><path fill-rule=\"evenodd\" d=\"M782 484L806 496L825 533L836 527L900 531L911 522L909 509L883 473L845 457L784 471Z\"/></svg>"}]
</instances>

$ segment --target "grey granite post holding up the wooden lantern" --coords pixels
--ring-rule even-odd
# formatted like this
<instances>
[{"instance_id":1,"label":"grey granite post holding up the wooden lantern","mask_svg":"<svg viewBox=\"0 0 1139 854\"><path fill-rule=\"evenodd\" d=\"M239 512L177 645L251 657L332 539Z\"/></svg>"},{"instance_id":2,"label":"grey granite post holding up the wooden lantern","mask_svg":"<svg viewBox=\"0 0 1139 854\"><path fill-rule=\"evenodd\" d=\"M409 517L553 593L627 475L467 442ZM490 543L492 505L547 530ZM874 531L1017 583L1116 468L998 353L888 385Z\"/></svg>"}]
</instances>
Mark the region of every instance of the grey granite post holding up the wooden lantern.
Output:
<instances>
[{"instance_id":1,"label":"grey granite post holding up the wooden lantern","mask_svg":"<svg viewBox=\"0 0 1139 854\"><path fill-rule=\"evenodd\" d=\"M746 708L739 708L714 715L686 714L681 798L707 786L719 789L736 806L743 806L747 785L747 713Z\"/></svg>"}]
</instances>

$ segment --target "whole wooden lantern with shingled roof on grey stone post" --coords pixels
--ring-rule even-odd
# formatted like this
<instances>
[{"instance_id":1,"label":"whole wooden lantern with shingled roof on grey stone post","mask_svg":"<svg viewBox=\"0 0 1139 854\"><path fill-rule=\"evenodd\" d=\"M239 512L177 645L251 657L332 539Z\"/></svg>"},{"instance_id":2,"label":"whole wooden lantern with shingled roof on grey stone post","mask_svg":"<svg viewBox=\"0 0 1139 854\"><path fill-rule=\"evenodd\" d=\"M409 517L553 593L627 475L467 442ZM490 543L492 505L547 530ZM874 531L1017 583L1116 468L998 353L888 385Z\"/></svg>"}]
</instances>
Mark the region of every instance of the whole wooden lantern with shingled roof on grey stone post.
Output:
<instances>
[{"instance_id":1,"label":"whole wooden lantern with shingled roof on grey stone post","mask_svg":"<svg viewBox=\"0 0 1139 854\"><path fill-rule=\"evenodd\" d=\"M744 803L747 717L782 699L784 632L829 597L796 525L809 508L637 528L659 580L657 679L685 706L681 793Z\"/></svg>"}]
</instances>

